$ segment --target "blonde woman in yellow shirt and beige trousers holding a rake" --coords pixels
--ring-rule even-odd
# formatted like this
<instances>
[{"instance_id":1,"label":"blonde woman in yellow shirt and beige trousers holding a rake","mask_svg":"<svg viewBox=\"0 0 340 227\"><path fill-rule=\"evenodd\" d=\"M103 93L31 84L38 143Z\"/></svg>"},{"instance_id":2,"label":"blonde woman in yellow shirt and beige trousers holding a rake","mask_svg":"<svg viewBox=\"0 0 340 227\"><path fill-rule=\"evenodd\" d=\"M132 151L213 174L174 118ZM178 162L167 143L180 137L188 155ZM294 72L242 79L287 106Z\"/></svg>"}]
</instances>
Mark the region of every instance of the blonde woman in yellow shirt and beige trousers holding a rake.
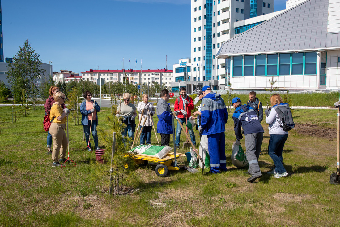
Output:
<instances>
[{"instance_id":1,"label":"blonde woman in yellow shirt and beige trousers holding a rake","mask_svg":"<svg viewBox=\"0 0 340 227\"><path fill-rule=\"evenodd\" d=\"M54 117L51 126L50 126L50 134L53 139L53 151L52 151L52 166L57 167L61 166L61 163L65 162L65 155L67 149L67 136L65 133L66 128L66 115L67 110L63 111L61 107L65 101L65 94L61 91L54 94L55 103L51 107L50 111L50 120ZM59 153L59 161L57 154Z\"/></svg>"}]
</instances>

